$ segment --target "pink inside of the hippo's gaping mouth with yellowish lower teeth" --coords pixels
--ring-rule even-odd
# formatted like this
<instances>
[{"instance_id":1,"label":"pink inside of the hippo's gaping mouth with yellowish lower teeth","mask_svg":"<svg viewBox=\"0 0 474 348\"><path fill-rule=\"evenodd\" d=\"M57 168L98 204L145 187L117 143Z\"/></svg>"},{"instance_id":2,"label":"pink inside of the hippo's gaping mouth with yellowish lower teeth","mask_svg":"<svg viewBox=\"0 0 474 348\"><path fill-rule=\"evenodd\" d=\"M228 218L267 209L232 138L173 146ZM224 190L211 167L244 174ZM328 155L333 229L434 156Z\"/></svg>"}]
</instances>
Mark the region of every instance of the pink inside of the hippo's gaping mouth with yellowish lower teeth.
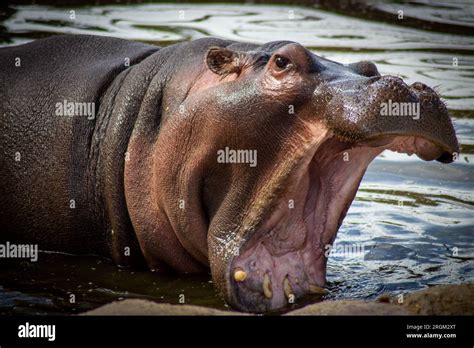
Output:
<instances>
[{"instance_id":1,"label":"pink inside of the hippo's gaping mouth with yellowish lower teeth","mask_svg":"<svg viewBox=\"0 0 474 348\"><path fill-rule=\"evenodd\" d=\"M416 153L424 160L444 153L416 136L350 143L328 133L293 170L269 217L230 262L228 302L240 310L266 312L306 295L321 296L330 245L367 166L385 149Z\"/></svg>"}]
</instances>

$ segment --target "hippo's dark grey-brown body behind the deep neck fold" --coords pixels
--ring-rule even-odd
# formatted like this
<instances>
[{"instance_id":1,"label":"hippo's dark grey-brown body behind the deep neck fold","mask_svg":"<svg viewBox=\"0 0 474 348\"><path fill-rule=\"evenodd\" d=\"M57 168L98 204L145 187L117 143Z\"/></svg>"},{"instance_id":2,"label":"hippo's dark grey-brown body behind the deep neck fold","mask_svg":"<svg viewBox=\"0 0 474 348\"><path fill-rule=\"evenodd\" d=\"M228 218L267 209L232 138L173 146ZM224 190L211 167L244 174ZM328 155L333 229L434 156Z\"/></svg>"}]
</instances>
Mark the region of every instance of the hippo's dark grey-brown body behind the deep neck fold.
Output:
<instances>
[{"instance_id":1,"label":"hippo's dark grey-brown body behind the deep neck fold","mask_svg":"<svg viewBox=\"0 0 474 348\"><path fill-rule=\"evenodd\" d=\"M87 35L0 49L0 241L103 247L86 178L95 116L114 78L158 49Z\"/></svg>"}]
</instances>

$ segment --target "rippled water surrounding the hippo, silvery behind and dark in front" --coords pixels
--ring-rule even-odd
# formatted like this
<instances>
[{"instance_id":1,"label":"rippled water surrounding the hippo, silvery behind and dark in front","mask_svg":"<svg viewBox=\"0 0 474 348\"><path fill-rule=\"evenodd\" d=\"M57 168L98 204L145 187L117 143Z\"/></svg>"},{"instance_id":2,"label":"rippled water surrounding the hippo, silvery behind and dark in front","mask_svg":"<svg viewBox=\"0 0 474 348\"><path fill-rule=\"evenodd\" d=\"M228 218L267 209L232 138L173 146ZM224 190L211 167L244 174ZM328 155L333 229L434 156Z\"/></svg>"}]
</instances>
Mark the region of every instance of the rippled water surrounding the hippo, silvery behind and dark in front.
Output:
<instances>
[{"instance_id":1,"label":"rippled water surrounding the hippo, silvery behind and dark in front","mask_svg":"<svg viewBox=\"0 0 474 348\"><path fill-rule=\"evenodd\" d=\"M347 9L322 3L10 5L0 44L59 33L162 46L208 35L255 43L293 40L329 59L373 60L382 74L436 86L453 115L459 160L442 165L385 152L370 165L337 239L364 249L331 256L327 298L373 299L474 281L474 4L387 2ZM2 264L0 313L77 313L128 297L176 304L182 294L188 304L228 309L206 275L158 276L64 254Z\"/></svg>"}]
</instances>

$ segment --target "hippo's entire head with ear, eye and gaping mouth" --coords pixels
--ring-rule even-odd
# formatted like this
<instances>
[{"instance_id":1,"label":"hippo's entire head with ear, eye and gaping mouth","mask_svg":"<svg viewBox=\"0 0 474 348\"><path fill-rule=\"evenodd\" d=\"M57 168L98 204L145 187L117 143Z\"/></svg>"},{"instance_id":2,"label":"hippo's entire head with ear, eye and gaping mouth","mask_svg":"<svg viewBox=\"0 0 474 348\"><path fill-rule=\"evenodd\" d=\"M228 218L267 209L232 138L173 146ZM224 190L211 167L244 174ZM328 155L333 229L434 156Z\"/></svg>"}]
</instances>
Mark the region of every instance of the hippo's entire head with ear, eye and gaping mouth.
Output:
<instances>
[{"instance_id":1,"label":"hippo's entire head with ear, eye and gaping mouth","mask_svg":"<svg viewBox=\"0 0 474 348\"><path fill-rule=\"evenodd\" d=\"M237 309L321 291L326 246L383 150L443 163L458 151L436 92L373 63L292 42L198 53L163 96L156 206Z\"/></svg>"}]
</instances>

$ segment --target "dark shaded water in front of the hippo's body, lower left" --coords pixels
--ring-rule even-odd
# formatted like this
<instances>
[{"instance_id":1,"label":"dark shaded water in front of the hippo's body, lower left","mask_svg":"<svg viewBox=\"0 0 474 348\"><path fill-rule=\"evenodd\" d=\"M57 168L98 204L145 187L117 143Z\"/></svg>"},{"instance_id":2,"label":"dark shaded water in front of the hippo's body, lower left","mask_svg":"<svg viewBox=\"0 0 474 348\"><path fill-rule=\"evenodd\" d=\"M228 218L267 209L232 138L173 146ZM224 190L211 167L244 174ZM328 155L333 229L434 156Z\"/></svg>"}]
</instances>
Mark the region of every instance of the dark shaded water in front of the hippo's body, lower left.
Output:
<instances>
[{"instance_id":1,"label":"dark shaded water in front of the hippo's body, lower left","mask_svg":"<svg viewBox=\"0 0 474 348\"><path fill-rule=\"evenodd\" d=\"M80 313L129 297L179 304L183 295L186 304L228 309L206 275L158 277L95 256L41 253L37 263L8 261L0 274L0 314Z\"/></svg>"}]
</instances>

